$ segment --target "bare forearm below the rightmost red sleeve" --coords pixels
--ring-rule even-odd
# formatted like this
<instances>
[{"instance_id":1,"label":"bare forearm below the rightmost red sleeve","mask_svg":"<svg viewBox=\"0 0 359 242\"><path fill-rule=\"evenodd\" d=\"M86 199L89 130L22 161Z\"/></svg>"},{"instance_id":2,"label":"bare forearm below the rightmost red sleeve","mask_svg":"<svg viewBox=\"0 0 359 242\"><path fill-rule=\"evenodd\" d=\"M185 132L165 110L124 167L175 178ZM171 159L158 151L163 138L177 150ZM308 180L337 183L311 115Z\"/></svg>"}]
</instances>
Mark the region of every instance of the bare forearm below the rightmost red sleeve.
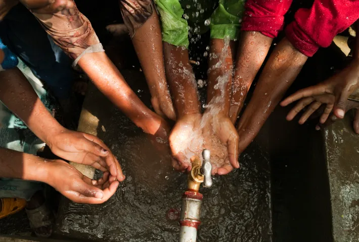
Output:
<instances>
[{"instance_id":1,"label":"bare forearm below the rightmost red sleeve","mask_svg":"<svg viewBox=\"0 0 359 242\"><path fill-rule=\"evenodd\" d=\"M248 106L241 116L238 133L240 152L254 139L265 120L293 83L307 57L284 38L271 54Z\"/></svg>"}]
</instances>

